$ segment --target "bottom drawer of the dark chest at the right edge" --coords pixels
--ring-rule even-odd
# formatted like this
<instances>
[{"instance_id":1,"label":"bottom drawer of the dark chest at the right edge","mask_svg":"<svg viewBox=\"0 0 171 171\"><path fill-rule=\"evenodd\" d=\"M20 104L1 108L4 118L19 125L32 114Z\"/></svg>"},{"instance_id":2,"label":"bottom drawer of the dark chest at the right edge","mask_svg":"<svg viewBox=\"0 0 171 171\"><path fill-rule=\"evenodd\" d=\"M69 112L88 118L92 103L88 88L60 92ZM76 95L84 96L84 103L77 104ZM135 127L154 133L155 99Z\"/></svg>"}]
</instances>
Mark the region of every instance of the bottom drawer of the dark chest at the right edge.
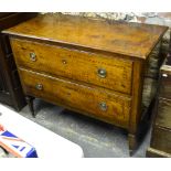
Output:
<instances>
[{"instance_id":1,"label":"bottom drawer of the dark chest at the right edge","mask_svg":"<svg viewBox=\"0 0 171 171\"><path fill-rule=\"evenodd\" d=\"M154 127L151 147L171 153L171 130Z\"/></svg>"}]
</instances>

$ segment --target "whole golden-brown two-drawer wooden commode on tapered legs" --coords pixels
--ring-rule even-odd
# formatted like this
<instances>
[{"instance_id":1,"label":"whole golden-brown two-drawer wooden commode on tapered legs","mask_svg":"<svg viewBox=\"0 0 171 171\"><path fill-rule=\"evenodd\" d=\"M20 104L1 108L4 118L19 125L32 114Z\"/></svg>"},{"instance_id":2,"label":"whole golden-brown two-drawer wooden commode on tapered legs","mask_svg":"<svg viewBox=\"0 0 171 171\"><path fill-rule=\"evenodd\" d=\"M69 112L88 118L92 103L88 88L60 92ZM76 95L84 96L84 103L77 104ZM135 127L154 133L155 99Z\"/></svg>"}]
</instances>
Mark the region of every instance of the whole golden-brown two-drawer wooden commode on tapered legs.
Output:
<instances>
[{"instance_id":1,"label":"whole golden-brown two-drawer wooden commode on tapered legs","mask_svg":"<svg viewBox=\"0 0 171 171\"><path fill-rule=\"evenodd\" d=\"M122 127L136 147L148 56L168 28L42 14L6 30L26 99Z\"/></svg>"}]
</instances>

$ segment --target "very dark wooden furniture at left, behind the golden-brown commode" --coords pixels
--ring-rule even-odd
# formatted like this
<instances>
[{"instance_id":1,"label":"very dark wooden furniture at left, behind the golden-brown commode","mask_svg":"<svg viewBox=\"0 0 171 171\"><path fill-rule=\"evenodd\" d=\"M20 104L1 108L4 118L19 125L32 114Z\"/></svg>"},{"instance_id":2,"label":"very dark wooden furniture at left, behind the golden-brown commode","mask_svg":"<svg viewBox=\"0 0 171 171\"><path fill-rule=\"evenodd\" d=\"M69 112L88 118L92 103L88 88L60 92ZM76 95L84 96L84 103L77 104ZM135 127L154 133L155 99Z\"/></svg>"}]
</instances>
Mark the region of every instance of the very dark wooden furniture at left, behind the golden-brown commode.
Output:
<instances>
[{"instance_id":1,"label":"very dark wooden furniture at left, behind the golden-brown commode","mask_svg":"<svg viewBox=\"0 0 171 171\"><path fill-rule=\"evenodd\" d=\"M35 17L36 13L0 12L0 103L20 110L26 105L10 42L2 30Z\"/></svg>"}]
</instances>

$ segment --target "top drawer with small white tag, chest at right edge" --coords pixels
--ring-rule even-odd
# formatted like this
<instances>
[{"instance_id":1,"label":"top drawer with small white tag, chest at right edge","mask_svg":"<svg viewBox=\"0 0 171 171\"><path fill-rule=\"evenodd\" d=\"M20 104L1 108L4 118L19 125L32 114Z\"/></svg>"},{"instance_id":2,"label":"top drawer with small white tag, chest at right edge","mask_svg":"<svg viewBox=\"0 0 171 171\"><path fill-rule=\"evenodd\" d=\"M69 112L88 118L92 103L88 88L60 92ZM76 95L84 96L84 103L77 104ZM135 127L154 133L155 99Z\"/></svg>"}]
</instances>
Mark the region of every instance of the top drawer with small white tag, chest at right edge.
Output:
<instances>
[{"instance_id":1,"label":"top drawer with small white tag, chest at right edge","mask_svg":"<svg viewBox=\"0 0 171 171\"><path fill-rule=\"evenodd\" d=\"M161 74L160 96L171 99L171 71L170 73L163 72Z\"/></svg>"}]
</instances>

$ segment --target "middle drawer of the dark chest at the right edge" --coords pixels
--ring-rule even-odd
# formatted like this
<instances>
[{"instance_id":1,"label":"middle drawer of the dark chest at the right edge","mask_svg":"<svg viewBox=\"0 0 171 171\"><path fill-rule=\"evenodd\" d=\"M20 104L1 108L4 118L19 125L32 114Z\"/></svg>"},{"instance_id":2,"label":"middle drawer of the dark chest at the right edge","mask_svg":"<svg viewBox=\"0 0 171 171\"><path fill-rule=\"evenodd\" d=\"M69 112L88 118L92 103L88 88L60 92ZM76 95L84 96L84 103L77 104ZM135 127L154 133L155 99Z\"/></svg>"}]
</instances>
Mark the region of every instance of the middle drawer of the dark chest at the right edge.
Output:
<instances>
[{"instance_id":1,"label":"middle drawer of the dark chest at the right edge","mask_svg":"<svg viewBox=\"0 0 171 171\"><path fill-rule=\"evenodd\" d=\"M159 98L156 124L171 129L171 99Z\"/></svg>"}]
</instances>

